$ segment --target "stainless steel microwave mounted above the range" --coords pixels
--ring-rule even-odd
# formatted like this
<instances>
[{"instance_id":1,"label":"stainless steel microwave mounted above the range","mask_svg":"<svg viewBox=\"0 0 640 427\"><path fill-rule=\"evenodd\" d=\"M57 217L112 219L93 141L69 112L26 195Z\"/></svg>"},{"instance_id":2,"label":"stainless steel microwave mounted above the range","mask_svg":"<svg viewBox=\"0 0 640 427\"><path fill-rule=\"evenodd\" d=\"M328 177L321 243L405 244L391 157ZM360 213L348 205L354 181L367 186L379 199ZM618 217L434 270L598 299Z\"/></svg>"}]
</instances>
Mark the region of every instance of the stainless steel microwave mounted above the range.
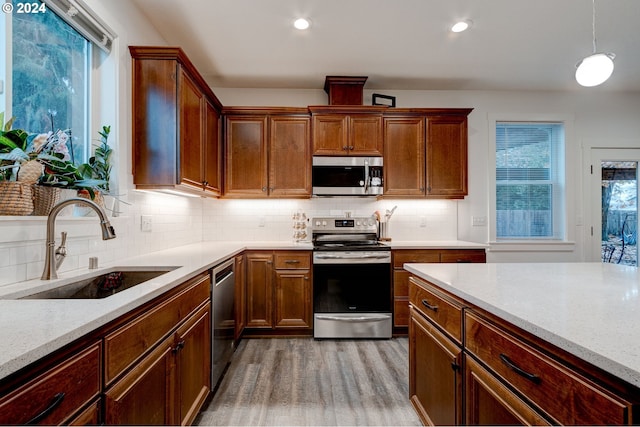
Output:
<instances>
[{"instance_id":1,"label":"stainless steel microwave mounted above the range","mask_svg":"<svg viewBox=\"0 0 640 427\"><path fill-rule=\"evenodd\" d=\"M377 196L383 190L382 157L314 156L314 196Z\"/></svg>"}]
</instances>

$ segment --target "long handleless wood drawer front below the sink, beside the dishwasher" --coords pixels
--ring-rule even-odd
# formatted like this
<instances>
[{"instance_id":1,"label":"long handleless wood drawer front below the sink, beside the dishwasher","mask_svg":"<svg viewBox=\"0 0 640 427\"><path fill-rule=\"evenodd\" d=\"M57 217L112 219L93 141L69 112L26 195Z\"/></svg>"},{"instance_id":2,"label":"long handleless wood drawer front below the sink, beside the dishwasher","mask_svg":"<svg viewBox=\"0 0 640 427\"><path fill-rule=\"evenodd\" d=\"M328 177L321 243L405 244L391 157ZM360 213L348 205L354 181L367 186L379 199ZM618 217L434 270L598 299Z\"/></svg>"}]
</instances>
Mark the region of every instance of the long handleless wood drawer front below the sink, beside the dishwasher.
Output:
<instances>
[{"instance_id":1,"label":"long handleless wood drawer front below the sink, beside the dishwasher","mask_svg":"<svg viewBox=\"0 0 640 427\"><path fill-rule=\"evenodd\" d=\"M209 299L209 275L198 276L193 284L149 312L105 337L105 383L135 362Z\"/></svg>"}]
</instances>

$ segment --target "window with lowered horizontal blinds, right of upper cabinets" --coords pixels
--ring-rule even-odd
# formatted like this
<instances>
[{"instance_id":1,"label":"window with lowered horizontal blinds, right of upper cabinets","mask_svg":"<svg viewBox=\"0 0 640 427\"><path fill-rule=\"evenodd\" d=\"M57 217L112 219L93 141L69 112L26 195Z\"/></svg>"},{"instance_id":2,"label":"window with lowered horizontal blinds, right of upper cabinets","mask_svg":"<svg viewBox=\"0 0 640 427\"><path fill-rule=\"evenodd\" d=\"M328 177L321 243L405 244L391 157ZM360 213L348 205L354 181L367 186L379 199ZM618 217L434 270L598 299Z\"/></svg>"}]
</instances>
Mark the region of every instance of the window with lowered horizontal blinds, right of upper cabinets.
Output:
<instances>
[{"instance_id":1,"label":"window with lowered horizontal blinds, right of upper cabinets","mask_svg":"<svg viewBox=\"0 0 640 427\"><path fill-rule=\"evenodd\" d=\"M496 122L496 238L564 238L564 124Z\"/></svg>"}]
</instances>

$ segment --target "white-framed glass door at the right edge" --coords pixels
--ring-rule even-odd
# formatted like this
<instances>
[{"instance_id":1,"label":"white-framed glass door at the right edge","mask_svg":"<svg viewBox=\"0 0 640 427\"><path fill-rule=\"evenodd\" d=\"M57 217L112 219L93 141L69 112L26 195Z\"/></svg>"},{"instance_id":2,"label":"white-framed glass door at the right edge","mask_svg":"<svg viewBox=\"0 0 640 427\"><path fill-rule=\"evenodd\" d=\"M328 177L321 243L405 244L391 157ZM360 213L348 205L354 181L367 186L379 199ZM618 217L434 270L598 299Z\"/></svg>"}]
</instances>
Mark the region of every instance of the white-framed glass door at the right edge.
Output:
<instances>
[{"instance_id":1,"label":"white-framed glass door at the right edge","mask_svg":"<svg viewBox=\"0 0 640 427\"><path fill-rule=\"evenodd\" d=\"M591 149L590 260L638 265L638 148Z\"/></svg>"}]
</instances>

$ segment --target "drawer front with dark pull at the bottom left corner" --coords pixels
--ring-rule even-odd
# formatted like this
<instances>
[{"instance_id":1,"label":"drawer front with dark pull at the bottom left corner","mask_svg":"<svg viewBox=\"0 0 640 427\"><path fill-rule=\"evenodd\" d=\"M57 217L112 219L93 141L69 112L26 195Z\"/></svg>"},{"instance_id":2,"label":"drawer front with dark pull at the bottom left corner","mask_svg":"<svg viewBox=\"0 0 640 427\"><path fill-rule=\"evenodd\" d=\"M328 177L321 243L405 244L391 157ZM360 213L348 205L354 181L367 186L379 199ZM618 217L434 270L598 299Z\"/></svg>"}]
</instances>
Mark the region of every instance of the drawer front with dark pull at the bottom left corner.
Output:
<instances>
[{"instance_id":1,"label":"drawer front with dark pull at the bottom left corner","mask_svg":"<svg viewBox=\"0 0 640 427\"><path fill-rule=\"evenodd\" d=\"M95 343L0 399L0 424L57 425L68 419L100 393L100 354Z\"/></svg>"}]
</instances>

